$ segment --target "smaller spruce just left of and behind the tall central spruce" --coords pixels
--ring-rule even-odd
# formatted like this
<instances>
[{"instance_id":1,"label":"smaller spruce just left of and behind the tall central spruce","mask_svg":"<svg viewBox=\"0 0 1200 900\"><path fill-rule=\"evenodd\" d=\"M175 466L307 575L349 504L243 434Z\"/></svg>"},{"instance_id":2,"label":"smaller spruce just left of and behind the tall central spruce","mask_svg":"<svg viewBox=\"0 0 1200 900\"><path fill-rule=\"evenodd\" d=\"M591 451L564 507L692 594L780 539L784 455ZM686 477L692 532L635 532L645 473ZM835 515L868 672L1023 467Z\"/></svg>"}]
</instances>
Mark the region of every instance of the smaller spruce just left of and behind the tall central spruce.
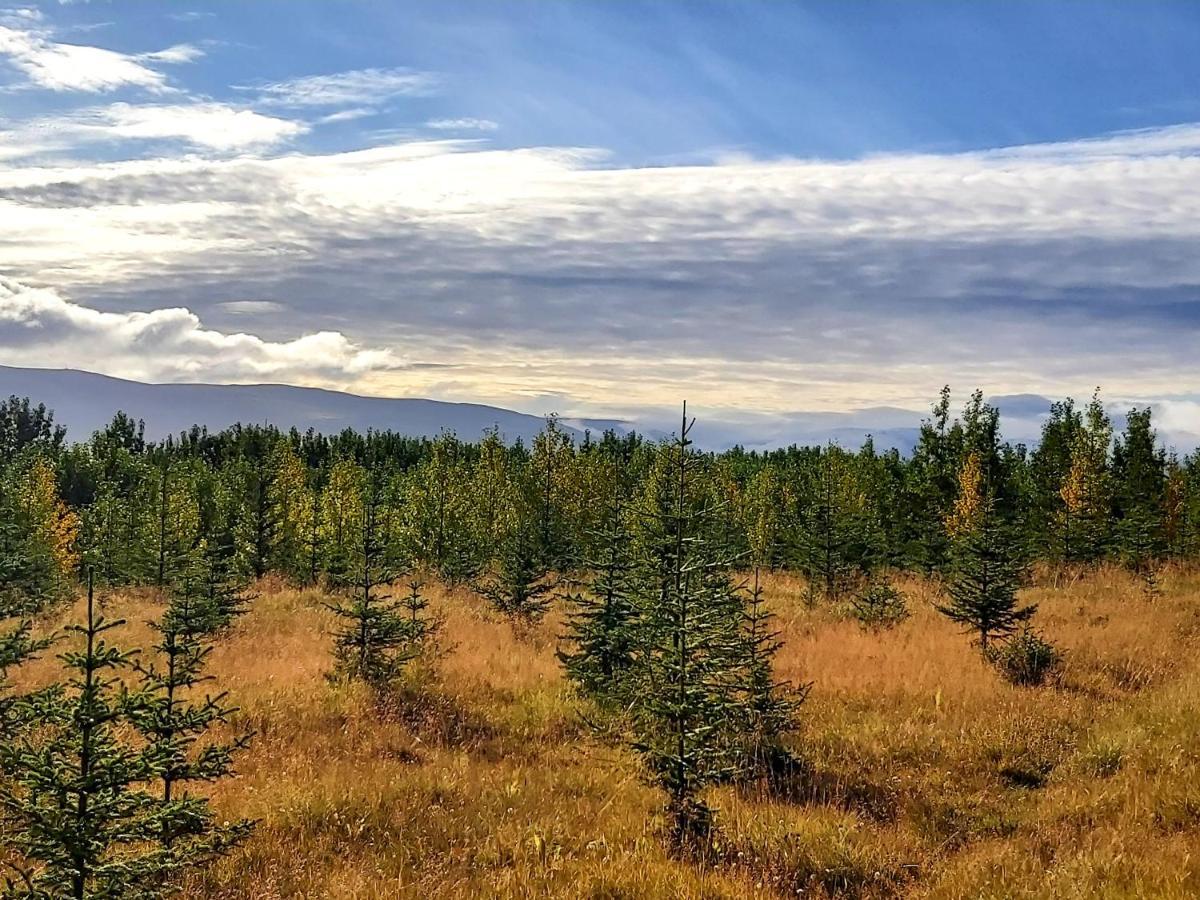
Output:
<instances>
[{"instance_id":1,"label":"smaller spruce just left of and behind the tall central spruce","mask_svg":"<svg viewBox=\"0 0 1200 900\"><path fill-rule=\"evenodd\" d=\"M614 482L616 484L616 482ZM568 677L593 700L619 700L634 665L638 610L634 599L634 559L619 488L608 518L598 529L600 556L588 560L586 589L569 595L566 637L571 649L558 654Z\"/></svg>"}]
</instances>

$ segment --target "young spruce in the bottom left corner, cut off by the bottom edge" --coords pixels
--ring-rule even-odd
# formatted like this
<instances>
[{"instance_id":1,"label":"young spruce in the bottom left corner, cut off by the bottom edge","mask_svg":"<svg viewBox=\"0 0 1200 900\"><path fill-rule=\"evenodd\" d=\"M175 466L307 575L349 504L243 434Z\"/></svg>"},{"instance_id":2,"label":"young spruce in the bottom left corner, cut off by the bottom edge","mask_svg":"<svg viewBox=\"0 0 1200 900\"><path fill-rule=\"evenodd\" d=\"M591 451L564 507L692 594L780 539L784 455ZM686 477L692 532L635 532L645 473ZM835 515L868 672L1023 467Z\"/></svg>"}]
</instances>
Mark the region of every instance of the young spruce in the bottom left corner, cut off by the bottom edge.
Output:
<instances>
[{"instance_id":1,"label":"young spruce in the bottom left corner, cut off by the bottom edge","mask_svg":"<svg viewBox=\"0 0 1200 900\"><path fill-rule=\"evenodd\" d=\"M120 685L133 654L106 635L121 624L96 613L89 575L86 622L70 628L84 647L60 656L74 676L28 701L38 728L0 745L0 811L17 854L4 896L157 896L188 862L157 842L173 816L143 787L164 770L162 748L122 734L146 697Z\"/></svg>"}]
</instances>

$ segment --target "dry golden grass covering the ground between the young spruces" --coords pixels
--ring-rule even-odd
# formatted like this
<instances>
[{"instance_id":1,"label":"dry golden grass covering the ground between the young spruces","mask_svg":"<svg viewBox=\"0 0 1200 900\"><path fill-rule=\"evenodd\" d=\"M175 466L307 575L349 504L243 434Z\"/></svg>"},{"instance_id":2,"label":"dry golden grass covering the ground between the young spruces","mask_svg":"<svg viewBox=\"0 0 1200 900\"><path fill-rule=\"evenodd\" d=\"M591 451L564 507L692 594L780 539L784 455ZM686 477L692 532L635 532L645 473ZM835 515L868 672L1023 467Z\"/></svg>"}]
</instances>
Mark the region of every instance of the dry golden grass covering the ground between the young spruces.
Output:
<instances>
[{"instance_id":1,"label":"dry golden grass covering the ground between the young spruces","mask_svg":"<svg viewBox=\"0 0 1200 900\"><path fill-rule=\"evenodd\" d=\"M259 826L186 896L1200 895L1200 574L1165 572L1157 598L1118 570L1044 577L1024 598L1067 665L1040 689L985 666L934 586L900 587L912 618L868 634L767 581L780 674L815 683L809 773L791 796L714 791L721 862L702 868L664 852L636 760L581 722L557 614L518 635L432 588L446 654L380 709L325 678L322 595L264 584L212 665L257 732L214 803ZM107 605L150 642L152 598Z\"/></svg>"}]
</instances>

